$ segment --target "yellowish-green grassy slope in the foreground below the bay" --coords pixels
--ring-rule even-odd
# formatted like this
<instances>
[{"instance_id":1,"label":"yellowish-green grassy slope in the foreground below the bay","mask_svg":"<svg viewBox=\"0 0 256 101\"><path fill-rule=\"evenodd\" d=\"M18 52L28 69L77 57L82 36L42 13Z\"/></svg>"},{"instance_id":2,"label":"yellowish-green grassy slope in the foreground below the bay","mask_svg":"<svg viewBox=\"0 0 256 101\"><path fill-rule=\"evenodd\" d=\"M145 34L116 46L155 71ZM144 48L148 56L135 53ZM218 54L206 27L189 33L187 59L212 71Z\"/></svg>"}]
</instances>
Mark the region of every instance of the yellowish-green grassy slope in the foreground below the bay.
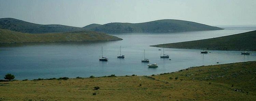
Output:
<instances>
[{"instance_id":1,"label":"yellowish-green grassy slope in the foreground below the bay","mask_svg":"<svg viewBox=\"0 0 256 101\"><path fill-rule=\"evenodd\" d=\"M256 61L252 61L190 67L152 76L11 81L0 82L0 100L255 101L255 77ZM96 86L98 90L94 90Z\"/></svg>"}]
</instances>

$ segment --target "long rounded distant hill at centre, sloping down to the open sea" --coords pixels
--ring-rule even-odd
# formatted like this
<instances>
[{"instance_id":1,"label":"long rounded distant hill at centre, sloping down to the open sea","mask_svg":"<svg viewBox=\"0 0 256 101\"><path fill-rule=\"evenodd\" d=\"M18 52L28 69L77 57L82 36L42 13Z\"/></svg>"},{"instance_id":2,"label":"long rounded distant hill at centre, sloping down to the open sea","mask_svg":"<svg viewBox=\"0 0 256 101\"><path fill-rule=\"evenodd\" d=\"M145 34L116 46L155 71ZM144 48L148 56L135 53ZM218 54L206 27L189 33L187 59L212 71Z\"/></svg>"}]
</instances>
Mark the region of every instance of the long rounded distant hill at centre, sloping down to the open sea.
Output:
<instances>
[{"instance_id":1,"label":"long rounded distant hill at centre, sloping down to the open sea","mask_svg":"<svg viewBox=\"0 0 256 101\"><path fill-rule=\"evenodd\" d=\"M104 25L91 24L85 27L86 30L97 32L181 32L181 31L209 31L222 30L223 28L213 27L196 22L183 20L157 20L145 23L108 23Z\"/></svg>"}]
</instances>

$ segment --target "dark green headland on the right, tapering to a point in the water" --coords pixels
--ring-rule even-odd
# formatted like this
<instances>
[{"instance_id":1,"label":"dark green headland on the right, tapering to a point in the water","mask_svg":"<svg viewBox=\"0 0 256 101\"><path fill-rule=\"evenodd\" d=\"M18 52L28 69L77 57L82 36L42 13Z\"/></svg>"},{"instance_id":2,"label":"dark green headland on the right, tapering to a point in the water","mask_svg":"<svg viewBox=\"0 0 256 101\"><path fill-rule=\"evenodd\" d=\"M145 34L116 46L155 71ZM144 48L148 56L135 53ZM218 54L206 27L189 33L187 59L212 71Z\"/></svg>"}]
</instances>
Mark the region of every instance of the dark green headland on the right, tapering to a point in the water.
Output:
<instances>
[{"instance_id":1,"label":"dark green headland on the right, tapering to a point in the water","mask_svg":"<svg viewBox=\"0 0 256 101\"><path fill-rule=\"evenodd\" d=\"M248 50L256 51L256 31L229 35L218 38L152 45L168 48L195 48L217 50Z\"/></svg>"}]
</instances>

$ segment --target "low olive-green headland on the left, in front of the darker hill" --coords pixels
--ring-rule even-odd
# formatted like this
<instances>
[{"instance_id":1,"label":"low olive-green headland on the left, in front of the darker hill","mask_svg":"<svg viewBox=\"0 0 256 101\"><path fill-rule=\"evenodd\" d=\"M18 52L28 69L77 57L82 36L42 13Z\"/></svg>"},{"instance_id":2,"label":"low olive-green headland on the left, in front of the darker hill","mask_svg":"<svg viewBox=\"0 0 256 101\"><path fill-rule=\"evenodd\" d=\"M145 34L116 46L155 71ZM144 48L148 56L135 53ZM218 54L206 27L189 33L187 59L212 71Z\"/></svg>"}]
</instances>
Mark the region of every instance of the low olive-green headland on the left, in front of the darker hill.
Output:
<instances>
[{"instance_id":1,"label":"low olive-green headland on the left, in front of the darker hill","mask_svg":"<svg viewBox=\"0 0 256 101\"><path fill-rule=\"evenodd\" d=\"M0 36L0 43L122 40L105 33L92 31L28 34L0 29Z\"/></svg>"}]
</instances>

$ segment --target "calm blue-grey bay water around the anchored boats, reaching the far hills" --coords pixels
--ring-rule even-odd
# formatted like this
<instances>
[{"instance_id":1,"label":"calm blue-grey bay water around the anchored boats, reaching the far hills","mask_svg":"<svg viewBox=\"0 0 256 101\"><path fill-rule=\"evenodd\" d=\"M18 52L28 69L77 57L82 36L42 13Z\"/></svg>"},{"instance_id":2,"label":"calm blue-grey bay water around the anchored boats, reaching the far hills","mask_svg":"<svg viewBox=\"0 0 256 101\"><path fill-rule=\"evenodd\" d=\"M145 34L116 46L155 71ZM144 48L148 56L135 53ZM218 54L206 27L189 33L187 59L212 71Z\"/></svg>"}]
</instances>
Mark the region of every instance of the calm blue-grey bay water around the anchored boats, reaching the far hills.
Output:
<instances>
[{"instance_id":1,"label":"calm blue-grey bay water around the anchored boats, reaching the far hills","mask_svg":"<svg viewBox=\"0 0 256 101\"><path fill-rule=\"evenodd\" d=\"M248 32L250 30L232 29L221 31L197 31L179 33L116 33L124 40L97 42L26 43L9 44L0 47L0 79L11 73L15 79L59 78L105 76L115 74L152 75L174 72L190 66L213 65L242 61L255 61L256 53L241 55L240 51L208 50L200 54L200 49L165 48L171 60L160 58L162 48L150 45L207 39ZM103 46L103 56L109 61L99 61ZM119 59L120 46L125 59ZM158 68L148 68L142 63L143 49L150 64Z\"/></svg>"}]
</instances>

